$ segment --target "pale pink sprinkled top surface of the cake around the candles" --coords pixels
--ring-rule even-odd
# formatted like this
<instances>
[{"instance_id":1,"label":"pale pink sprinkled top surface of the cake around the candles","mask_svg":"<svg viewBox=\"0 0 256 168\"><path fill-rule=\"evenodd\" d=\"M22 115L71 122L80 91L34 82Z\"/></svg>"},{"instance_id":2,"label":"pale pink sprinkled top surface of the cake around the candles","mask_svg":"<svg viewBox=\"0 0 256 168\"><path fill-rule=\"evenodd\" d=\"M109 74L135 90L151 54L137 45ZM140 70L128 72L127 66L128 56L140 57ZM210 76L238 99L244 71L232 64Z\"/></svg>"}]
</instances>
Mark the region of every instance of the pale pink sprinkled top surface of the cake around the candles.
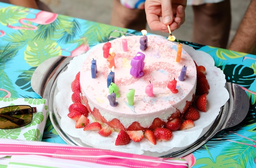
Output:
<instances>
[{"instance_id":1,"label":"pale pink sprinkled top surface of the cake around the candles","mask_svg":"<svg viewBox=\"0 0 256 168\"><path fill-rule=\"evenodd\" d=\"M109 62L103 57L103 44L94 46L86 55L80 74L82 93L90 99L93 106L99 110L109 110L122 114L143 115L154 111L166 111L168 108L176 108L196 84L196 67L191 56L182 50L180 62L176 62L177 44L159 36L148 35L148 47L140 50L139 40L142 36L127 36L128 51L122 48L122 39L110 41L113 53L115 53L115 84L119 88L120 97L117 97L118 105L110 106L108 101L109 89L107 78L111 70ZM138 52L145 54L145 66L142 77L130 75L131 60ZM92 60L97 61L97 77L91 77ZM184 81L178 77L183 66L187 67ZM168 82L177 80L178 93L172 93L167 88ZM153 94L150 97L145 93L148 84L153 84ZM134 104L130 106L126 94L130 89L135 89Z\"/></svg>"}]
</instances>

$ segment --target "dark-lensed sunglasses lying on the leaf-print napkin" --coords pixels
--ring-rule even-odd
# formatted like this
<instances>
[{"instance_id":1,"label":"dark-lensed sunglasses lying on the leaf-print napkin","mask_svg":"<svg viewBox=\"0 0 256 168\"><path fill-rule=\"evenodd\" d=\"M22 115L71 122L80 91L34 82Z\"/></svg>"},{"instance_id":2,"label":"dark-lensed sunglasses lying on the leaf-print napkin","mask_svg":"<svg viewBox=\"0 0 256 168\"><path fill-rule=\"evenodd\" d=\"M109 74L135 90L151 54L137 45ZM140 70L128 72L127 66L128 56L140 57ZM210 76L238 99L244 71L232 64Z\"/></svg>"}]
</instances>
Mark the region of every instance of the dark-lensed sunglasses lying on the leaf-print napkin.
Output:
<instances>
[{"instance_id":1,"label":"dark-lensed sunglasses lying on the leaf-print napkin","mask_svg":"<svg viewBox=\"0 0 256 168\"><path fill-rule=\"evenodd\" d=\"M0 108L0 129L13 129L32 122L36 107L16 105Z\"/></svg>"}]
</instances>

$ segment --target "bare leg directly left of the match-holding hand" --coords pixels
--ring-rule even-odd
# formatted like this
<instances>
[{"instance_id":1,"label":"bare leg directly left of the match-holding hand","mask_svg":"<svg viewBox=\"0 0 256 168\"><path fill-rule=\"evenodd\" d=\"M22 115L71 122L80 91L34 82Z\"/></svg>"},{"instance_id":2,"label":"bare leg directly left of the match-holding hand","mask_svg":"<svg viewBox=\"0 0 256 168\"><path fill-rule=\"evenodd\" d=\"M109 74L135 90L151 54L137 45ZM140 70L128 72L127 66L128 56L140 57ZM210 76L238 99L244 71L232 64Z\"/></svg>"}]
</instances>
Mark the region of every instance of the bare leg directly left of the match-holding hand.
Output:
<instances>
[{"instance_id":1,"label":"bare leg directly left of the match-holding hand","mask_svg":"<svg viewBox=\"0 0 256 168\"><path fill-rule=\"evenodd\" d=\"M129 9L119 0L113 0L111 25L141 31L146 29L146 14L144 9Z\"/></svg>"}]
</instances>

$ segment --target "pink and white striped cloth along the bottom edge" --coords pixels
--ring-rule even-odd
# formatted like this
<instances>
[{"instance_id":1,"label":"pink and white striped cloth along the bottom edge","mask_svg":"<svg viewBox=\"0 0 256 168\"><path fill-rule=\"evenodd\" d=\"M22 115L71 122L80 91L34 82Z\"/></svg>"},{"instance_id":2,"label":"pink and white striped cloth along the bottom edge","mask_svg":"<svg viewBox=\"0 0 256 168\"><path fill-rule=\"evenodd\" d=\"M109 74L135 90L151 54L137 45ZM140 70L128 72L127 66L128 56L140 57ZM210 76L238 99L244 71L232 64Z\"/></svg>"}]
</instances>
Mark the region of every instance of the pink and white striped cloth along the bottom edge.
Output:
<instances>
[{"instance_id":1,"label":"pink and white striped cloth along the bottom edge","mask_svg":"<svg viewBox=\"0 0 256 168\"><path fill-rule=\"evenodd\" d=\"M29 157L29 164L40 164L36 161L37 155L42 161L65 161L72 160L72 164L87 162L100 166L118 166L121 168L137 167L137 168L187 168L188 163L184 159L177 158L161 158L150 157L144 155L134 155L129 153L115 152L111 150L101 150L96 148L86 148L81 146L70 146L65 144L54 144L40 141L21 141L13 139L0 139L0 157ZM48 158L48 159L45 159ZM20 159L23 162L24 159ZM18 161L18 158L16 158ZM33 163L34 161L34 163ZM32 163L31 163L32 162ZM17 163L16 163L17 164ZM25 164L25 163L20 163ZM43 165L42 163L40 165Z\"/></svg>"}]
</instances>

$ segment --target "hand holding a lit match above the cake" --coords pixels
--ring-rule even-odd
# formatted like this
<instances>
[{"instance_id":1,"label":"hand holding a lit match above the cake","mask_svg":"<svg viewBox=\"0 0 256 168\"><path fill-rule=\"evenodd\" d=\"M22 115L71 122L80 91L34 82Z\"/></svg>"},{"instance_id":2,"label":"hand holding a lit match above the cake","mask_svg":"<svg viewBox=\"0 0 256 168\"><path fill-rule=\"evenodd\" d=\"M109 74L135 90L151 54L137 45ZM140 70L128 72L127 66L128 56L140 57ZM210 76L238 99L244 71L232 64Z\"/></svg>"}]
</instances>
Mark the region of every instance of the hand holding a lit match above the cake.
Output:
<instances>
[{"instance_id":1,"label":"hand holding a lit match above the cake","mask_svg":"<svg viewBox=\"0 0 256 168\"><path fill-rule=\"evenodd\" d=\"M146 0L145 12L152 31L168 33L178 29L185 21L186 0Z\"/></svg>"}]
</instances>

